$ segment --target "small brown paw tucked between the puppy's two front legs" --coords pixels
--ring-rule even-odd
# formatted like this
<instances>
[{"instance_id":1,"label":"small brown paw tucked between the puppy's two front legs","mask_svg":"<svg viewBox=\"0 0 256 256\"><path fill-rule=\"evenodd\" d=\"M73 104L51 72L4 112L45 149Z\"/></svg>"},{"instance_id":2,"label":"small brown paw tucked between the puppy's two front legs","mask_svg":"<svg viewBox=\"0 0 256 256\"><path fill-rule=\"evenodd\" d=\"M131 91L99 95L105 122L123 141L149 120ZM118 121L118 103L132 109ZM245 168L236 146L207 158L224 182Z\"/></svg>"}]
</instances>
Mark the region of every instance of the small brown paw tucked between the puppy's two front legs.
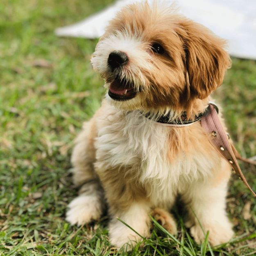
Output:
<instances>
[{"instance_id":1,"label":"small brown paw tucked between the puppy's two front legs","mask_svg":"<svg viewBox=\"0 0 256 256\"><path fill-rule=\"evenodd\" d=\"M177 226L171 213L161 208L155 208L151 215L172 235L177 234Z\"/></svg>"}]
</instances>

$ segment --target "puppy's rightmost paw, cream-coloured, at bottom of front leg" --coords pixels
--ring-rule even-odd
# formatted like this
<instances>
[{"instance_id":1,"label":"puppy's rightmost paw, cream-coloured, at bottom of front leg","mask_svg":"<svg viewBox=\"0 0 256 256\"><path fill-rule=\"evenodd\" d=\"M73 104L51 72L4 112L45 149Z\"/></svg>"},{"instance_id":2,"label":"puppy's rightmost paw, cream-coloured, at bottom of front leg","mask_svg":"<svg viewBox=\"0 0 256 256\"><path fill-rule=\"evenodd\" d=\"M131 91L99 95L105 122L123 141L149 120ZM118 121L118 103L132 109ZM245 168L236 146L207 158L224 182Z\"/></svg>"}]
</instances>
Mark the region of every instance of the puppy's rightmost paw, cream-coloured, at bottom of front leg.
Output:
<instances>
[{"instance_id":1,"label":"puppy's rightmost paw, cream-coloured, at bottom of front leg","mask_svg":"<svg viewBox=\"0 0 256 256\"><path fill-rule=\"evenodd\" d=\"M229 222L225 224L211 223L203 225L202 227L199 224L195 224L190 228L190 233L198 244L204 241L207 231L209 231L208 241L212 246L228 242L234 234Z\"/></svg>"}]
</instances>

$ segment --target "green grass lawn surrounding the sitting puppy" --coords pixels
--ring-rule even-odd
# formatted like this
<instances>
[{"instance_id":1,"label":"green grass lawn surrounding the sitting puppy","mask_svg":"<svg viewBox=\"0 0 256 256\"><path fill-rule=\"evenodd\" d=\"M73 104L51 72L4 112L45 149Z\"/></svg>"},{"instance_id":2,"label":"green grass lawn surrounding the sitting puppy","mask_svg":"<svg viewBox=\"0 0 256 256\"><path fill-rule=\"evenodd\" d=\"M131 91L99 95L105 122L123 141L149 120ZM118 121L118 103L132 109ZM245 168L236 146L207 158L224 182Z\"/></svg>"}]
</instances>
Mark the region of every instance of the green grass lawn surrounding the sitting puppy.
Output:
<instances>
[{"instance_id":1,"label":"green grass lawn surrounding the sitting puppy","mask_svg":"<svg viewBox=\"0 0 256 256\"><path fill-rule=\"evenodd\" d=\"M53 32L110 2L0 2L0 256L125 255L109 244L107 217L80 228L64 220L77 194L69 172L72 140L100 106L104 89L89 61L97 40ZM256 62L233 59L215 97L240 153L256 155ZM256 190L256 168L242 168ZM177 204L177 238L154 222L151 238L129 255L255 255L255 199L237 177L230 185L236 237L229 244L211 248L206 235L196 245Z\"/></svg>"}]
</instances>

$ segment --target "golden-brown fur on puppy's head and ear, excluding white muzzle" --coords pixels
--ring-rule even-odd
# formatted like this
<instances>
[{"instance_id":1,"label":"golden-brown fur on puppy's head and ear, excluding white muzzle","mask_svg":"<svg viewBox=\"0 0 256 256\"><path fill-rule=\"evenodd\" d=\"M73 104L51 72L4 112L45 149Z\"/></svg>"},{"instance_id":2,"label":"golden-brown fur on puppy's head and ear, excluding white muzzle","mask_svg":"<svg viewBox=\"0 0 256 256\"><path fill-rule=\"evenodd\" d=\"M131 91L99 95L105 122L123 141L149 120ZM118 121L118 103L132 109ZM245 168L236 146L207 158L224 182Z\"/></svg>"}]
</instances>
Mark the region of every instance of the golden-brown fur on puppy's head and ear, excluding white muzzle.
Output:
<instances>
[{"instance_id":1,"label":"golden-brown fur on puppy's head and ear, excluding white muzzle","mask_svg":"<svg viewBox=\"0 0 256 256\"><path fill-rule=\"evenodd\" d=\"M125 7L102 39L114 31L129 31L141 37L145 47L158 42L165 49L165 54L153 56L153 70L143 70L147 78L147 88L141 93L145 109L171 106L193 116L202 107L198 99L206 99L222 84L231 64L223 39L181 15L170 15L169 9L159 11L157 5Z\"/></svg>"}]
</instances>

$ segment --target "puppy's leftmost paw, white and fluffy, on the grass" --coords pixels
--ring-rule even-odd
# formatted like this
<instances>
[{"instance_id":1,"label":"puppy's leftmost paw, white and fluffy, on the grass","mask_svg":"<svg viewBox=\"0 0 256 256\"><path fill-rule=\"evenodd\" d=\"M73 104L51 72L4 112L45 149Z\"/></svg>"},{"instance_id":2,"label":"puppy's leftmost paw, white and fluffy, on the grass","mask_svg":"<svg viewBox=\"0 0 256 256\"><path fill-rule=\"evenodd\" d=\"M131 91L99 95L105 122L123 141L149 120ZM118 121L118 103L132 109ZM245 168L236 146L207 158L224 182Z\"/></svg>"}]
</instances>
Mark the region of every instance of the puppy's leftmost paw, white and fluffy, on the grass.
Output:
<instances>
[{"instance_id":1,"label":"puppy's leftmost paw, white and fluffy, on the grass","mask_svg":"<svg viewBox=\"0 0 256 256\"><path fill-rule=\"evenodd\" d=\"M81 226L92 220L98 220L102 214L102 205L98 197L80 195L68 205L66 220L70 224Z\"/></svg>"}]
</instances>

